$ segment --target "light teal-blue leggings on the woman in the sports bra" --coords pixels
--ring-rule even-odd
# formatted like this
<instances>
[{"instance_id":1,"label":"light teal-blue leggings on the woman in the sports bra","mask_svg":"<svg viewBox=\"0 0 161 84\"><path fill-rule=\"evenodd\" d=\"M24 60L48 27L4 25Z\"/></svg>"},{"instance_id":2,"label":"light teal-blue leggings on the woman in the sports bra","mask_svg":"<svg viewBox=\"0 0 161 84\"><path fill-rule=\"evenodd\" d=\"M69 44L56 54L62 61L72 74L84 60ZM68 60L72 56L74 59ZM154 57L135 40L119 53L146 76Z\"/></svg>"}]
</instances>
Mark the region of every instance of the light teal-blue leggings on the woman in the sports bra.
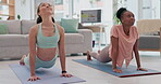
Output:
<instances>
[{"instance_id":1,"label":"light teal-blue leggings on the woman in the sports bra","mask_svg":"<svg viewBox=\"0 0 161 84\"><path fill-rule=\"evenodd\" d=\"M58 55L52 60L46 61L46 60L41 60L37 56L35 56L35 69L51 68L55 64L57 57L58 57ZM27 68L30 68L29 67L29 54L28 54L28 56L26 56L24 58L24 62Z\"/></svg>"}]
</instances>

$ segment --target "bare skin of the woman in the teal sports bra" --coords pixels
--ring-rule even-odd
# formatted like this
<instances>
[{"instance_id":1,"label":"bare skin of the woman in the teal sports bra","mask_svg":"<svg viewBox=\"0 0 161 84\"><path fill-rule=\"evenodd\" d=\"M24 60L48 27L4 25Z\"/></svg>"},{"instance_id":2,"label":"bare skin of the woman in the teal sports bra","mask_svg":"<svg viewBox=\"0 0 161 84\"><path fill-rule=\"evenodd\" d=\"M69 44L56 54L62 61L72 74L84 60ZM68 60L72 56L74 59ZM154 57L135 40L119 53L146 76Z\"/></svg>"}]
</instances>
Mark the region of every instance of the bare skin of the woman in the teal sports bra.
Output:
<instances>
[{"instance_id":1,"label":"bare skin of the woman in the teal sports bra","mask_svg":"<svg viewBox=\"0 0 161 84\"><path fill-rule=\"evenodd\" d=\"M54 36L54 26L57 25L57 28L59 29L60 33L60 40L58 43L59 47L59 55L60 55L60 62L61 62L61 68L62 71L66 71L65 68L65 44L64 44L64 29L59 26L58 24L54 24L52 22L52 14L53 14L53 9L49 3L41 3L39 6L39 13L38 15L41 16L42 22L41 22L41 28L42 28L42 34L45 37L52 37ZM57 48L51 47L51 48L41 48L36 46L36 39L37 39L37 33L38 33L38 25L35 25L34 27L30 28L29 31L29 62L30 62L30 78L28 81L36 81L40 80L39 76L35 74L35 56L38 56L41 60L51 60L54 58L57 54ZM37 50L36 50L37 47ZM25 56L22 57L21 61L23 61ZM25 65L24 62L20 62L21 65ZM62 73L61 76L65 78L71 78L72 74L69 73Z\"/></svg>"}]
</instances>

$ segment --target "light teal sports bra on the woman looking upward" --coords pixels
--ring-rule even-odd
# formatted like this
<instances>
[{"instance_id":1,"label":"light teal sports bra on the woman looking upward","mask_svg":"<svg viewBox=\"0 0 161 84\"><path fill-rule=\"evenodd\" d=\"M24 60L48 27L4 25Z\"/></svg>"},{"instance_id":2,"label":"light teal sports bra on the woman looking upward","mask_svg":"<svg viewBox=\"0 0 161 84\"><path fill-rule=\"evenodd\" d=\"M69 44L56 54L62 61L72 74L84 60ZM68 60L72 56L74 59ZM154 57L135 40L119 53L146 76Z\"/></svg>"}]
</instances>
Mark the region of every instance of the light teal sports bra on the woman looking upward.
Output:
<instances>
[{"instance_id":1,"label":"light teal sports bra on the woman looking upward","mask_svg":"<svg viewBox=\"0 0 161 84\"><path fill-rule=\"evenodd\" d=\"M52 37L46 37L42 34L41 24L39 24L38 34L37 34L37 46L42 48L57 47L60 40L59 30L57 25L54 25L54 34Z\"/></svg>"}]
</instances>

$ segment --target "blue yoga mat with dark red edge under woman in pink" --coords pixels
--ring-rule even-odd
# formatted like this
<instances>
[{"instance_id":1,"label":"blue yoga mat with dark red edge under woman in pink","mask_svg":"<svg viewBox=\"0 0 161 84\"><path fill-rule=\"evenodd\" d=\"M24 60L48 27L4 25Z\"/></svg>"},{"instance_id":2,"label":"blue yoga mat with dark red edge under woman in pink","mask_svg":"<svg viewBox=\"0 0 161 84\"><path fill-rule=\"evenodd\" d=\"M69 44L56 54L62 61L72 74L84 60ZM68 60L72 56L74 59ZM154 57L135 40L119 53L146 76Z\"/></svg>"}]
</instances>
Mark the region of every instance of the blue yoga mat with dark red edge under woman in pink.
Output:
<instances>
[{"instance_id":1,"label":"blue yoga mat with dark red edge under woman in pink","mask_svg":"<svg viewBox=\"0 0 161 84\"><path fill-rule=\"evenodd\" d=\"M122 73L116 73L116 72L112 71L112 64L110 64L110 62L103 64L103 62L99 62L96 59L92 59L92 60L89 60L89 61L86 60L86 59L73 59L73 60L76 61L76 62L79 62L82 65L95 68L97 70L100 70L100 71L113 74L113 75L119 76L119 78L150 75L150 74L161 74L161 71L157 71L157 70L152 70L152 69L147 69L147 68L146 69L148 71L137 71L136 70L137 69L136 66L132 66L132 65L129 65L127 67L127 69L125 68L125 65L124 65L122 67L122 71L123 72Z\"/></svg>"}]
</instances>

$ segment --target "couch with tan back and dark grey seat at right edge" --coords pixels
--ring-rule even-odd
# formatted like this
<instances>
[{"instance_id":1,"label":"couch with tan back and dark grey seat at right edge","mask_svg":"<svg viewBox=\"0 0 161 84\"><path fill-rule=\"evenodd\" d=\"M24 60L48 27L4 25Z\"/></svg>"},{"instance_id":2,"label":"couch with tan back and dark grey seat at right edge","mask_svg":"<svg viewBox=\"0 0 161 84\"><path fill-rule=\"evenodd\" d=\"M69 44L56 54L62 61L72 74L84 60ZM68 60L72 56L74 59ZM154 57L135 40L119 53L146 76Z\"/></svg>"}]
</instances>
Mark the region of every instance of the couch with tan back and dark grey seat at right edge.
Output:
<instances>
[{"instance_id":1,"label":"couch with tan back and dark grey seat at right edge","mask_svg":"<svg viewBox=\"0 0 161 84\"><path fill-rule=\"evenodd\" d=\"M137 20L139 50L161 52L161 19Z\"/></svg>"}]
</instances>

